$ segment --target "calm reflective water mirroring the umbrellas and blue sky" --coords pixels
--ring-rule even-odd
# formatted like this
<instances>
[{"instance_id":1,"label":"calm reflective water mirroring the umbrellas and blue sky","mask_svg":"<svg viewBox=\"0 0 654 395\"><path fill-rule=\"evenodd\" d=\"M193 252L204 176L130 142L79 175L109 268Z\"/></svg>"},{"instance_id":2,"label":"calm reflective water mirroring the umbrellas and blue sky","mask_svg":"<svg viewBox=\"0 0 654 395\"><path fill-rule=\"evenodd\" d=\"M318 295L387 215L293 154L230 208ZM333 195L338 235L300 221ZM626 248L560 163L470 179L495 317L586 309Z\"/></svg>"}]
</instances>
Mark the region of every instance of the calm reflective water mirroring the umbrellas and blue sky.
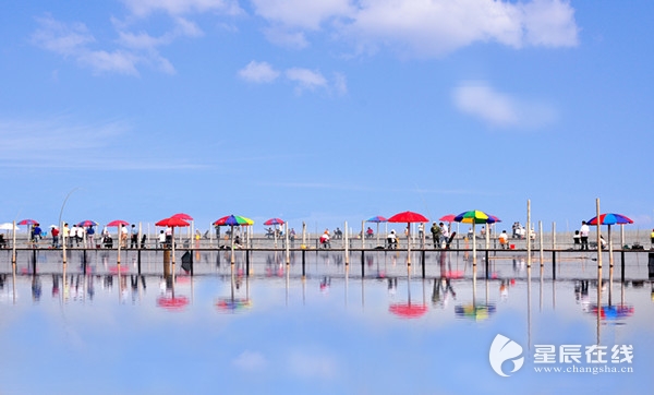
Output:
<instances>
[{"instance_id":1,"label":"calm reflective water mirroring the umbrellas and blue sky","mask_svg":"<svg viewBox=\"0 0 654 395\"><path fill-rule=\"evenodd\" d=\"M613 273L604 255L597 282L595 252L561 254L555 268L536 253L531 270L523 252L491 254L488 275L483 253L474 271L464 253L429 252L425 278L420 253L409 268L403 252L353 252L346 265L342 252L307 251L304 278L300 252L289 265L283 252L239 251L234 265L229 252L197 253L194 276L182 253L174 279L160 251L141 265L125 252L121 273L110 252L87 253L84 267L74 251L65 270L55 251L22 252L15 276L0 253L0 393L627 394L654 384L646 251L627 254L623 283L619 254ZM522 348L511 356L523 358L519 370L500 364L509 376L489 363L498 334ZM559 362L566 345L579 363ZM549 346L555 363L537 363ZM614 346L633 348L614 356Z\"/></svg>"}]
</instances>

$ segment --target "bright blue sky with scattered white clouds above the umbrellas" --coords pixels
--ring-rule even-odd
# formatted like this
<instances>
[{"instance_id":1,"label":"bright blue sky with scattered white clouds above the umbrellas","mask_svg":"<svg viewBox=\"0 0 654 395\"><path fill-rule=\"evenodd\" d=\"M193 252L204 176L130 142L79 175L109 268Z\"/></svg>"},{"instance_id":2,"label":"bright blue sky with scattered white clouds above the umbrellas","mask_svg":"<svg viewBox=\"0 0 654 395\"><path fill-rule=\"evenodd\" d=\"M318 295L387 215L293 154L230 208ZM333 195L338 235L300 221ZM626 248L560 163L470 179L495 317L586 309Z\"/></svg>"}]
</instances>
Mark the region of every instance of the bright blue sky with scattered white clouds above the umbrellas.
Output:
<instances>
[{"instance_id":1,"label":"bright blue sky with scattered white clouds above the umbrellas","mask_svg":"<svg viewBox=\"0 0 654 395\"><path fill-rule=\"evenodd\" d=\"M0 222L652 228L650 1L0 5ZM206 225L203 225L206 224Z\"/></svg>"}]
</instances>

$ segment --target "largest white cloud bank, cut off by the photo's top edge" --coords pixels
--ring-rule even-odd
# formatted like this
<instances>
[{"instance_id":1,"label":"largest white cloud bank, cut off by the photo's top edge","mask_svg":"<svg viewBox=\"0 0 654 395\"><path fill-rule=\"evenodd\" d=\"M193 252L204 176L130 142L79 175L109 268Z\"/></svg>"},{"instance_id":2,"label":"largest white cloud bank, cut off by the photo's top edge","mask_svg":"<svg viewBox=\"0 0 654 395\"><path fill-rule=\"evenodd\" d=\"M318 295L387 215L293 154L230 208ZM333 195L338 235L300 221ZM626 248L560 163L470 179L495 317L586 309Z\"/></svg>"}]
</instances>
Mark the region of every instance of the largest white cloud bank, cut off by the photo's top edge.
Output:
<instances>
[{"instance_id":1,"label":"largest white cloud bank, cut off by the photo's top edge","mask_svg":"<svg viewBox=\"0 0 654 395\"><path fill-rule=\"evenodd\" d=\"M275 31L331 28L360 51L389 47L412 56L443 56L479 41L514 48L578 44L567 0L254 0ZM268 35L272 40L276 36Z\"/></svg>"}]
</instances>

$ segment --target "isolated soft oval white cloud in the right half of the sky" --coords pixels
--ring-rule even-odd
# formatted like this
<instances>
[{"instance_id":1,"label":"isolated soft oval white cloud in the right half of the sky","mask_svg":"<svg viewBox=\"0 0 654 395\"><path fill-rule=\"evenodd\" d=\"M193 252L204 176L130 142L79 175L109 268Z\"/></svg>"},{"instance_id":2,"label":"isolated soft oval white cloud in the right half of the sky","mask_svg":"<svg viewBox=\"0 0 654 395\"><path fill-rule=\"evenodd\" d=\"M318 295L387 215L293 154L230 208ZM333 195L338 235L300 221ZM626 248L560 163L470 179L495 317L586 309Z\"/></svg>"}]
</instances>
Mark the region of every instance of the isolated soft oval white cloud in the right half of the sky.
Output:
<instances>
[{"instance_id":1,"label":"isolated soft oval white cloud in the right half of the sky","mask_svg":"<svg viewBox=\"0 0 654 395\"><path fill-rule=\"evenodd\" d=\"M548 105L499 93L484 82L457 86L452 98L459 110L493 127L534 129L557 118Z\"/></svg>"}]
</instances>

